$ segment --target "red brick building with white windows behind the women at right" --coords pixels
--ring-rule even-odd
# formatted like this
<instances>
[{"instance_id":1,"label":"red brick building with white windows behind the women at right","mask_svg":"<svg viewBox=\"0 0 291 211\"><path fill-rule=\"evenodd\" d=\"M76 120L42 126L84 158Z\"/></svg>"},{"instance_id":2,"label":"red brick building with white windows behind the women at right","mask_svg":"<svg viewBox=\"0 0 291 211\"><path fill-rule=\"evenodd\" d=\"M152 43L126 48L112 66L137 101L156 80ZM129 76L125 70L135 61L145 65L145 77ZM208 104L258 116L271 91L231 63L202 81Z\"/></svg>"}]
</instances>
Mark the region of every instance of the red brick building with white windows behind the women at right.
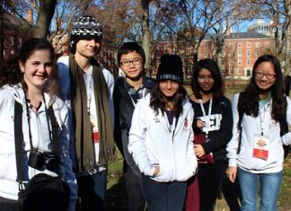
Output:
<instances>
[{"instance_id":1,"label":"red brick building with white windows behind the women at right","mask_svg":"<svg viewBox=\"0 0 291 211\"><path fill-rule=\"evenodd\" d=\"M228 33L225 35L221 53L222 75L225 78L248 79L251 68L258 57L271 52L273 39L256 32ZM153 75L156 73L158 58L165 53L181 56L186 76L191 75L193 66L193 47L182 42L161 41L155 44L152 55ZM198 59L216 59L215 39L207 35L198 48Z\"/></svg>"}]
</instances>

